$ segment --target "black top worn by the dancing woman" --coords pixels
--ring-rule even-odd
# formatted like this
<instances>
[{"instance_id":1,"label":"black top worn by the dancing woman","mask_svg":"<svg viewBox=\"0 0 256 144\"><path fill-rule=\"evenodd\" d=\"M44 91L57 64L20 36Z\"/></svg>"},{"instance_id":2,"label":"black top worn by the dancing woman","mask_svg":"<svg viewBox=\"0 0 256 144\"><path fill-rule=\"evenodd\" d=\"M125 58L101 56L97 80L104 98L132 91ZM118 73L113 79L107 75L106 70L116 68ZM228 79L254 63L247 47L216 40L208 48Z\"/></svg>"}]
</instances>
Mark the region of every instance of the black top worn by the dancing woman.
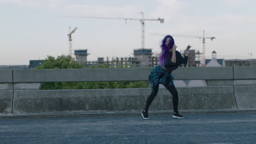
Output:
<instances>
[{"instance_id":1,"label":"black top worn by the dancing woman","mask_svg":"<svg viewBox=\"0 0 256 144\"><path fill-rule=\"evenodd\" d=\"M187 64L188 63L188 57L185 56L184 58L182 57L181 53L179 51L176 51L176 63L172 62L172 52L169 52L170 56L167 55L167 53L165 54L166 57L166 64L165 64L165 69L167 71L173 71L176 70L179 65L181 64Z\"/></svg>"}]
</instances>

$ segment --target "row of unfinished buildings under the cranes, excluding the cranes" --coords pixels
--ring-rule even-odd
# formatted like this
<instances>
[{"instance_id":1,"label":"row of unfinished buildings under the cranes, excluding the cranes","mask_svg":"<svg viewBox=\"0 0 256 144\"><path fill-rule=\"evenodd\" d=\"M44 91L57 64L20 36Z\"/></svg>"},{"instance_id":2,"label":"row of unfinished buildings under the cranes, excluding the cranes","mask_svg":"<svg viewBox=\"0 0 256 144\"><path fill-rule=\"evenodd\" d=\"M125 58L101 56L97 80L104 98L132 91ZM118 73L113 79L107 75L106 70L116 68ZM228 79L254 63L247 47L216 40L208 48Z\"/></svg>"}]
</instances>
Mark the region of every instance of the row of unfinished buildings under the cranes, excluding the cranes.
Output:
<instances>
[{"instance_id":1,"label":"row of unfinished buildings under the cranes, excluding the cranes","mask_svg":"<svg viewBox=\"0 0 256 144\"><path fill-rule=\"evenodd\" d=\"M136 67L154 67L159 64L159 53L153 56L152 49L135 49L133 50L134 57L112 57L104 59L104 57L98 57L97 61L87 61L89 55L87 50L75 50L75 58L78 63L84 63L85 67L97 64L107 64L110 67L116 67L117 65L127 65ZM184 51L181 51L184 54ZM202 53L195 50L189 50L188 64L181 65L181 67L199 67L201 66Z\"/></svg>"}]
</instances>

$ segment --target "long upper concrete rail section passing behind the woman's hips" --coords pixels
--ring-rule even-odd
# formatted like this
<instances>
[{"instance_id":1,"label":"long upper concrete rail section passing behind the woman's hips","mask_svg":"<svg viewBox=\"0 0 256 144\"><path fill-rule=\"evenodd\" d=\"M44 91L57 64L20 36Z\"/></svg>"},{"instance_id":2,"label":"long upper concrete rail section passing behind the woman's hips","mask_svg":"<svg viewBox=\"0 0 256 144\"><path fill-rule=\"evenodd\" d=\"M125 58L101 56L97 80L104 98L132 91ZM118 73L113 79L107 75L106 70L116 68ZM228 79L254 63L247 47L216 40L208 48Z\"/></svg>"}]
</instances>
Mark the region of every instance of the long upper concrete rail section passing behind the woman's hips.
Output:
<instances>
[{"instance_id":1,"label":"long upper concrete rail section passing behind the woman's hips","mask_svg":"<svg viewBox=\"0 0 256 144\"><path fill-rule=\"evenodd\" d=\"M148 81L152 68L14 70L14 83ZM214 71L214 73L212 73ZM190 67L173 71L174 80L232 80L232 67Z\"/></svg>"}]
</instances>

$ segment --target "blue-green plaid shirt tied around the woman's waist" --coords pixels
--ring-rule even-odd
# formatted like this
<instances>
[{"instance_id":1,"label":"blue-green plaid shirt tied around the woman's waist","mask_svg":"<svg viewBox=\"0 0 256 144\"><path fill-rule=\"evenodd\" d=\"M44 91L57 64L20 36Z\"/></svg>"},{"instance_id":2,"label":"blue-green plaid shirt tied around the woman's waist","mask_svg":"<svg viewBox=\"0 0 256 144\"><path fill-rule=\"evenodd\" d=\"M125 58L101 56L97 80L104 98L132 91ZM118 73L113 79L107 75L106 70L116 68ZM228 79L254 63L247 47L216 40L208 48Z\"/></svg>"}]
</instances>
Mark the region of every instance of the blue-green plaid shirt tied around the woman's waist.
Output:
<instances>
[{"instance_id":1,"label":"blue-green plaid shirt tied around the woman's waist","mask_svg":"<svg viewBox=\"0 0 256 144\"><path fill-rule=\"evenodd\" d=\"M165 87L174 85L173 79L172 72L166 71L161 67L161 65L156 65L148 76L148 80L151 83L152 92L154 92L154 87L159 83Z\"/></svg>"}]
</instances>

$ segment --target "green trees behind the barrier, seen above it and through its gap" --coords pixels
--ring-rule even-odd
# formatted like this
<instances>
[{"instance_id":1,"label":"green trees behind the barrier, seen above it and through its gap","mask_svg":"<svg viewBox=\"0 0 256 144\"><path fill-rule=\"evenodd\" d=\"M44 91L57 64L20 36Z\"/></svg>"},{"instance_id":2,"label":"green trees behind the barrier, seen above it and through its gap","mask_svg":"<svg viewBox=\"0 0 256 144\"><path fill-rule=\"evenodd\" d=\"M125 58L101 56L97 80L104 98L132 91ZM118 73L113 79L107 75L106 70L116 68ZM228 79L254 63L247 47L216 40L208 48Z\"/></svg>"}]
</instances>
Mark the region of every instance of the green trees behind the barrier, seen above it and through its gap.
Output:
<instances>
[{"instance_id":1,"label":"green trees behind the barrier, seen above it and through its gap","mask_svg":"<svg viewBox=\"0 0 256 144\"><path fill-rule=\"evenodd\" d=\"M132 65L131 67L135 67ZM57 58L48 56L44 63L35 69L70 69L84 68L71 56L61 55ZM107 63L90 65L89 68L114 68ZM117 64L116 68L128 68L127 63ZM114 81L114 82L44 82L41 89L104 89L104 88L143 88L149 87L148 81Z\"/></svg>"}]
</instances>

